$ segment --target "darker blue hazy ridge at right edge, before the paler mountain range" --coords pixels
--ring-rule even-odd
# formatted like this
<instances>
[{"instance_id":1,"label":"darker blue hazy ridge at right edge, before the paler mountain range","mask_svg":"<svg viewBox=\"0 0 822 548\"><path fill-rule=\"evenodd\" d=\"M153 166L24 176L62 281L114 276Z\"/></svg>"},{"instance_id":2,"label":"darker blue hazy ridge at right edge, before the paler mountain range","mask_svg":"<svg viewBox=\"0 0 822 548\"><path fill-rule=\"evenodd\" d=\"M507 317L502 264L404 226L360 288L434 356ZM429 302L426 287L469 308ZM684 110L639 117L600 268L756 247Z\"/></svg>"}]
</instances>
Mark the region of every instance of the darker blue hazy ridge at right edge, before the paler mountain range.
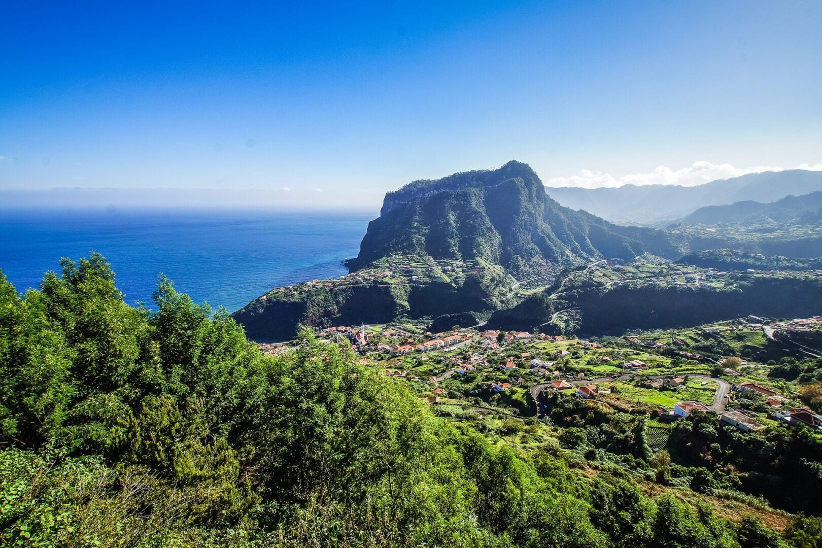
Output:
<instances>
[{"instance_id":1,"label":"darker blue hazy ridge at right edge, before the paler mountain range","mask_svg":"<svg viewBox=\"0 0 822 548\"><path fill-rule=\"evenodd\" d=\"M731 205L706 205L682 219L686 224L816 223L822 221L822 191L785 196L770 204L745 200Z\"/></svg>"}]
</instances>

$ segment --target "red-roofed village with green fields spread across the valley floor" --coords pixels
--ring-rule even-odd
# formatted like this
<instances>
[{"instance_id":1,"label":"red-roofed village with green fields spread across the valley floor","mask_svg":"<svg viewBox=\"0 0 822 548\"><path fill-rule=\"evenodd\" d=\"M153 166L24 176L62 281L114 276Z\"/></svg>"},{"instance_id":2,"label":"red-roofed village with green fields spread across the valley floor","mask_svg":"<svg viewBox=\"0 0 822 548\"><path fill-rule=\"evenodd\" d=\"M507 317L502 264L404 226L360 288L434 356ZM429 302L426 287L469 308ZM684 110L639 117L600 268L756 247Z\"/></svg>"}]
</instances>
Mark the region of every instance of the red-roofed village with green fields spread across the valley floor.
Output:
<instances>
[{"instance_id":1,"label":"red-roofed village with green fields spread across the valley floor","mask_svg":"<svg viewBox=\"0 0 822 548\"><path fill-rule=\"evenodd\" d=\"M822 431L822 417L803 402L797 385L769 376L773 361L750 357L755 344L766 354L776 352L769 345L784 347L779 332L822 333L820 316L770 321L749 316L593 340L479 326L439 333L416 327L335 326L316 336L350 344L362 356L361 365L408 383L436 411L460 416L546 417L552 395L562 394L645 414L656 449L663 448L672 422L699 412L713 413L741 432L769 425ZM261 348L289 352L285 344ZM794 355L807 352L791 348Z\"/></svg>"}]
</instances>

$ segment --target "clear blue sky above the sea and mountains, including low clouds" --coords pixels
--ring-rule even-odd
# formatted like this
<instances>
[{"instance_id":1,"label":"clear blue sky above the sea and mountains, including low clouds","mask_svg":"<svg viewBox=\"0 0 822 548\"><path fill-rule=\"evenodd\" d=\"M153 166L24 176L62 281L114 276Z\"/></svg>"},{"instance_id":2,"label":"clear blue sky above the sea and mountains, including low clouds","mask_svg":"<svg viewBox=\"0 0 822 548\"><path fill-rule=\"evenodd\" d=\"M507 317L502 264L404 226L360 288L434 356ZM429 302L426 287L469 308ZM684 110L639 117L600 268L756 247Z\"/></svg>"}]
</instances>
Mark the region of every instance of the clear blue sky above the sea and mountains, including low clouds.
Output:
<instances>
[{"instance_id":1,"label":"clear blue sky above the sea and mountains, including low clouds","mask_svg":"<svg viewBox=\"0 0 822 548\"><path fill-rule=\"evenodd\" d=\"M822 2L392 3L7 2L0 191L370 207L509 159L822 168Z\"/></svg>"}]
</instances>

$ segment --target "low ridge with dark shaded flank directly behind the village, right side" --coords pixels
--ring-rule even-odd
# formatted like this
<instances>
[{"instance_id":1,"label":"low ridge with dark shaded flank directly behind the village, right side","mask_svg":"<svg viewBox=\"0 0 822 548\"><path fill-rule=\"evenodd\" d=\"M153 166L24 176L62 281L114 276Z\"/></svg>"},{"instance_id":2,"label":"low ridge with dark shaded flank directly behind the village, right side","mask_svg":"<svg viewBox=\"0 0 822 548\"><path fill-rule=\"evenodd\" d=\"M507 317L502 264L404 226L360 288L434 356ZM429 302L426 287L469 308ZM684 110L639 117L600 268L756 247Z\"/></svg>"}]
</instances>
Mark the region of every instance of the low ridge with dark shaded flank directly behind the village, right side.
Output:
<instances>
[{"instance_id":1,"label":"low ridge with dark shaded flank directly behind the village, right side","mask_svg":"<svg viewBox=\"0 0 822 548\"><path fill-rule=\"evenodd\" d=\"M822 277L722 273L682 265L597 266L566 274L552 288L496 311L488 326L546 333L622 334L687 327L749 314L815 315Z\"/></svg>"}]
</instances>

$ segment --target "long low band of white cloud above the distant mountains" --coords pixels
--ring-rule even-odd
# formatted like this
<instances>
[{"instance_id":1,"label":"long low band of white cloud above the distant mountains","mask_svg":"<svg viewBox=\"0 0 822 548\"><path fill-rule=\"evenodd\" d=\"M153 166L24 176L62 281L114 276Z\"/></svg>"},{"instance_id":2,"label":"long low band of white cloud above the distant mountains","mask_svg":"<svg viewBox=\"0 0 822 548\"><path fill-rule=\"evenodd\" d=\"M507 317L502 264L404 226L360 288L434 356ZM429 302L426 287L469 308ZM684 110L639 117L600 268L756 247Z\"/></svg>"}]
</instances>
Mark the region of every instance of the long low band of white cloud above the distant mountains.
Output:
<instances>
[{"instance_id":1,"label":"long low band of white cloud above the distant mountains","mask_svg":"<svg viewBox=\"0 0 822 548\"><path fill-rule=\"evenodd\" d=\"M611 173L593 172L589 169L580 170L579 175L570 177L554 177L548 179L546 187L621 187L622 185L682 185L695 187L706 182L729 177L739 177L748 173L762 173L764 171L783 171L777 166L756 166L755 168L735 168L730 163L695 162L688 168L672 169L667 166L657 166L651 173L628 173L621 177L614 177ZM802 163L797 169L822 171L822 163L810 165Z\"/></svg>"}]
</instances>

